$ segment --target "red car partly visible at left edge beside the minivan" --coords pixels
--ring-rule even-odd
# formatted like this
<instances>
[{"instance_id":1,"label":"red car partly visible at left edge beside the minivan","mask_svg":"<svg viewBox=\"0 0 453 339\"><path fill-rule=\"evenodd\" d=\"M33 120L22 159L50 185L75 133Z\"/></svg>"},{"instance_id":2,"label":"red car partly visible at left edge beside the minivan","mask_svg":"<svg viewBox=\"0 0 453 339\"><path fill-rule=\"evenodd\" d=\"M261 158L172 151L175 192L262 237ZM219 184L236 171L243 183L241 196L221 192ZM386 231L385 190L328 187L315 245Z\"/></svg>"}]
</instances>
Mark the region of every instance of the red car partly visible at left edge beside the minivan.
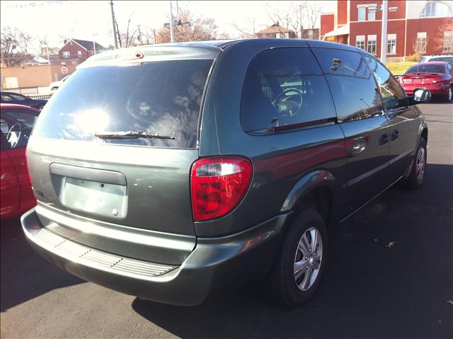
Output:
<instances>
[{"instance_id":1,"label":"red car partly visible at left edge beside the minivan","mask_svg":"<svg viewBox=\"0 0 453 339\"><path fill-rule=\"evenodd\" d=\"M25 148L40 111L0 104L0 218L18 216L36 204L25 159Z\"/></svg>"}]
</instances>

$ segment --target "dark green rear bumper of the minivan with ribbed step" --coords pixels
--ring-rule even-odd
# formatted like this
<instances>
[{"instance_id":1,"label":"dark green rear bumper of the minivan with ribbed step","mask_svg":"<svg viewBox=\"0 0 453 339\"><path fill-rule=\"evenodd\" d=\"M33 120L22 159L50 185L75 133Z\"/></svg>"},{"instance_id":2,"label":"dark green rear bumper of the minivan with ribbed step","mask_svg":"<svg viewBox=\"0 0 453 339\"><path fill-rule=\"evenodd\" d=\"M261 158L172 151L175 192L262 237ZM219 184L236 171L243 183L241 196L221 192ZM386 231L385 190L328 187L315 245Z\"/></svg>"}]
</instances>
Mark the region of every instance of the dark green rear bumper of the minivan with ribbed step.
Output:
<instances>
[{"instance_id":1,"label":"dark green rear bumper of the minivan with ribbed step","mask_svg":"<svg viewBox=\"0 0 453 339\"><path fill-rule=\"evenodd\" d=\"M21 223L28 243L42 257L82 279L142 299L190 306L268 272L288 215L234 235L197 238L195 249L179 266L75 243L42 226L35 209L25 213Z\"/></svg>"}]
</instances>

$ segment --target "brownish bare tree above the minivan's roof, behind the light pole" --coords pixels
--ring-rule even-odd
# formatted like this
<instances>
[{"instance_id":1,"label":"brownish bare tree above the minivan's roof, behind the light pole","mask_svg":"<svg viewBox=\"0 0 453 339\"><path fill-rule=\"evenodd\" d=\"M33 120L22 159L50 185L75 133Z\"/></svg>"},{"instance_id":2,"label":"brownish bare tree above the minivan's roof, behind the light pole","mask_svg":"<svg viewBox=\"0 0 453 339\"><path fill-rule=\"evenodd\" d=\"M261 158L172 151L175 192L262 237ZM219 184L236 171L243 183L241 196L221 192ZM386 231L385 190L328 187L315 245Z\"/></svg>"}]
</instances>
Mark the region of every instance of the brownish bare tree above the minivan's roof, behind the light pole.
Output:
<instances>
[{"instance_id":1,"label":"brownish bare tree above the minivan's roof, behind the light pole","mask_svg":"<svg viewBox=\"0 0 453 339\"><path fill-rule=\"evenodd\" d=\"M177 21L189 22L190 26L174 26L175 41L212 40L217 38L217 25L213 18L194 16L188 9L179 9ZM170 42L170 28L156 31L156 43Z\"/></svg>"}]
</instances>

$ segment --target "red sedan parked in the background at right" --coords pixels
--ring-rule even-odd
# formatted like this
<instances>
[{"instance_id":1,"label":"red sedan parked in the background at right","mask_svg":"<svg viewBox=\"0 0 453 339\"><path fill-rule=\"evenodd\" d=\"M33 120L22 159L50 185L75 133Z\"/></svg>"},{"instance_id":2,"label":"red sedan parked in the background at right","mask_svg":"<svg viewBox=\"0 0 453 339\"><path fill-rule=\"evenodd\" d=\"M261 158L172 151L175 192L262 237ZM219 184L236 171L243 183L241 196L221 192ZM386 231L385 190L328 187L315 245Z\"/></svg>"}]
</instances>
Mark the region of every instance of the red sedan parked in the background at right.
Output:
<instances>
[{"instance_id":1,"label":"red sedan parked in the background at right","mask_svg":"<svg viewBox=\"0 0 453 339\"><path fill-rule=\"evenodd\" d=\"M398 81L406 94L413 95L413 90L427 88L433 96L442 96L452 101L453 70L449 62L422 62L409 68Z\"/></svg>"}]
</instances>

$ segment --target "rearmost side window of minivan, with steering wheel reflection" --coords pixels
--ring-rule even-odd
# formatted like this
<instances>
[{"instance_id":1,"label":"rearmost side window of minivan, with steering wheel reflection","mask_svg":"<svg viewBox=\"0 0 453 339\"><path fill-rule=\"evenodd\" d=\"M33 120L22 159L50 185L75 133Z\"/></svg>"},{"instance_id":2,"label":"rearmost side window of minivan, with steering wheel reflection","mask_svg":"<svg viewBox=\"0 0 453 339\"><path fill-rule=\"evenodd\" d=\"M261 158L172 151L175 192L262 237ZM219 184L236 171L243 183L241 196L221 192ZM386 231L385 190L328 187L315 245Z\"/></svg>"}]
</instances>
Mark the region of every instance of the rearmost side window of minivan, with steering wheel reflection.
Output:
<instances>
[{"instance_id":1,"label":"rearmost side window of minivan, with steering wheel reflection","mask_svg":"<svg viewBox=\"0 0 453 339\"><path fill-rule=\"evenodd\" d=\"M336 118L326 79L309 48L276 48L253 57L241 98L241 125L265 133Z\"/></svg>"}]
</instances>

